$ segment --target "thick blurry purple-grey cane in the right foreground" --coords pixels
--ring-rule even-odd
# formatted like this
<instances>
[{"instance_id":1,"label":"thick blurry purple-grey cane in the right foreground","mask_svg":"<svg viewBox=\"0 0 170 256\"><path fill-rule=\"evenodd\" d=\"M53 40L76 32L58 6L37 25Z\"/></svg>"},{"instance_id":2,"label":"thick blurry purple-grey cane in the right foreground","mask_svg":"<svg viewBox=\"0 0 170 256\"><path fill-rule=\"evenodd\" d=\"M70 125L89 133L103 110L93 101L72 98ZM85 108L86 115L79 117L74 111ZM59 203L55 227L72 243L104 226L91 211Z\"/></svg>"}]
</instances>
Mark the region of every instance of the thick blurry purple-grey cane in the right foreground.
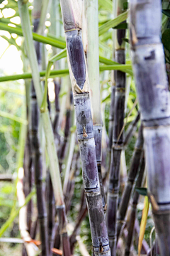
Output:
<instances>
[{"instance_id":1,"label":"thick blurry purple-grey cane in the right foreground","mask_svg":"<svg viewBox=\"0 0 170 256\"><path fill-rule=\"evenodd\" d=\"M162 256L170 255L170 102L159 0L130 1L132 63L144 124L149 195Z\"/></svg>"}]
</instances>

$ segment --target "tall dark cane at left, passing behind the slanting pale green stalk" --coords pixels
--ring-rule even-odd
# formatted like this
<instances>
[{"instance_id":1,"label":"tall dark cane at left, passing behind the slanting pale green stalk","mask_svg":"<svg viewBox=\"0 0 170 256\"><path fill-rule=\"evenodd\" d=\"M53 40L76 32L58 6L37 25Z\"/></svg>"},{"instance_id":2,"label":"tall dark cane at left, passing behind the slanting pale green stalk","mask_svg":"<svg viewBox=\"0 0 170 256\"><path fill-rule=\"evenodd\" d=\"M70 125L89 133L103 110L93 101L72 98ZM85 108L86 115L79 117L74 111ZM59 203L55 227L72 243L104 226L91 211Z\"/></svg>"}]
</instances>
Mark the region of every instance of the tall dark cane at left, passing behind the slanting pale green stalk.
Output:
<instances>
[{"instance_id":1,"label":"tall dark cane at left, passing behind the slanting pale green stalk","mask_svg":"<svg viewBox=\"0 0 170 256\"><path fill-rule=\"evenodd\" d=\"M40 15L38 6L42 4L42 1L35 1L33 11L33 25L34 32L38 31L40 27ZM37 7L37 8L36 8ZM42 62L41 46L40 43L35 42L35 51L38 58L39 66ZM40 238L42 241L42 255L49 255L48 246L48 233L47 233L47 209L45 202L45 183L42 182L42 151L40 149L40 140L38 136L38 123L39 112L38 102L35 95L34 84L32 82L31 88L31 114L30 114L30 142L31 150L33 154L33 170L35 175L35 186L37 194L37 206L38 206L38 220L40 223Z\"/></svg>"}]
</instances>

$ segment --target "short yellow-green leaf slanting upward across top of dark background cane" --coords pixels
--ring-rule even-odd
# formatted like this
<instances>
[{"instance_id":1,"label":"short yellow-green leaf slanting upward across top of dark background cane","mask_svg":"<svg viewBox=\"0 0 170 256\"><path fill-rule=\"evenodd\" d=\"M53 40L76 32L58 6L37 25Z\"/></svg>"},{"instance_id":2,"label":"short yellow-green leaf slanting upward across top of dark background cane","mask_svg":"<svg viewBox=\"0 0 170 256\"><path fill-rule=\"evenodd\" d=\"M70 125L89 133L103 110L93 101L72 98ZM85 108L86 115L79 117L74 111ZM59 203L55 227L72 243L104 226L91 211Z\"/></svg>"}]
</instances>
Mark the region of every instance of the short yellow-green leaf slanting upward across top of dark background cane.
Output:
<instances>
[{"instance_id":1,"label":"short yellow-green leaf slanting upward across top of dark background cane","mask_svg":"<svg viewBox=\"0 0 170 256\"><path fill-rule=\"evenodd\" d=\"M125 21L127 18L128 18L128 11L125 11L123 14L120 14L118 17L113 18L113 20L104 23L98 28L98 36L101 36L103 33L108 31L109 28L118 26L118 24Z\"/></svg>"}]
</instances>

